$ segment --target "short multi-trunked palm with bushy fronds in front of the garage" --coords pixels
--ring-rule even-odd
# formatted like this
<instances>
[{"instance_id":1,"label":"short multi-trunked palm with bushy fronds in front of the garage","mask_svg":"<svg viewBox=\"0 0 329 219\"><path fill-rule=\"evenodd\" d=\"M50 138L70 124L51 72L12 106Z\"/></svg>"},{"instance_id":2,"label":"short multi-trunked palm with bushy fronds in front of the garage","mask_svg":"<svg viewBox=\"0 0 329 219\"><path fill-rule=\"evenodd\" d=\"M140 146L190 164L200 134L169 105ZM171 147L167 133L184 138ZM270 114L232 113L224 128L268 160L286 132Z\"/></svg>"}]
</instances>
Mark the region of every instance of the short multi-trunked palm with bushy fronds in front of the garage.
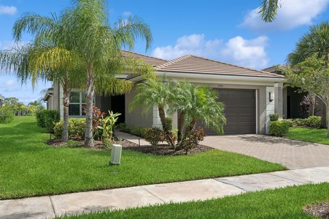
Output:
<instances>
[{"instance_id":1,"label":"short multi-trunked palm with bushy fronds in front of the garage","mask_svg":"<svg viewBox=\"0 0 329 219\"><path fill-rule=\"evenodd\" d=\"M224 106L217 101L216 92L188 81L184 83L163 81L164 79L149 79L138 84L137 94L130 104L130 110L141 106L144 112L149 112L156 105L166 140L171 147L181 149L188 134L195 129L198 120L217 133L223 133L223 125L226 124L223 115ZM167 119L167 115L172 115L174 112L178 112L177 144L172 138Z\"/></svg>"}]
</instances>

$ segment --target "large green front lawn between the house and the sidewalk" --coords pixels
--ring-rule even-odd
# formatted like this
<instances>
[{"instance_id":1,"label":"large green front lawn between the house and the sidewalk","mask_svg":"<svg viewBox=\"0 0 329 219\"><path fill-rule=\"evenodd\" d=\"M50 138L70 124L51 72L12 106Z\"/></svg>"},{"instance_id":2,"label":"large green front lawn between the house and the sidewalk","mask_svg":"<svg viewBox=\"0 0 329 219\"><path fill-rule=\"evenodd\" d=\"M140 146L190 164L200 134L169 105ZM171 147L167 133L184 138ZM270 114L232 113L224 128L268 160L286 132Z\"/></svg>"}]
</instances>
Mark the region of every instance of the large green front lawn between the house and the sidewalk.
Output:
<instances>
[{"instance_id":1,"label":"large green front lawn between the house and the sidewalk","mask_svg":"<svg viewBox=\"0 0 329 219\"><path fill-rule=\"evenodd\" d=\"M31 116L0 125L0 199L62 194L151 183L284 170L284 166L219 150L155 156L123 150L109 166L110 151L54 148L45 144Z\"/></svg>"}]
</instances>

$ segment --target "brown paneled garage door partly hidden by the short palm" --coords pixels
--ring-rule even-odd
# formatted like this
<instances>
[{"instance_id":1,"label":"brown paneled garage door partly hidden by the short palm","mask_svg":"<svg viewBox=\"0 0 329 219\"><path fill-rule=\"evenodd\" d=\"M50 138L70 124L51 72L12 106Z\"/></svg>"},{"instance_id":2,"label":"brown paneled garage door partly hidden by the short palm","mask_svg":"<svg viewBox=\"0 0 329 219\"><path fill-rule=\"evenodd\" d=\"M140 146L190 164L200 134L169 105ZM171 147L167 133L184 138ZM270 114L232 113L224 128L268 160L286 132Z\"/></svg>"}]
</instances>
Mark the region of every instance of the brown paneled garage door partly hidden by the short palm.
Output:
<instances>
[{"instance_id":1,"label":"brown paneled garage door partly hidden by the short palm","mask_svg":"<svg viewBox=\"0 0 329 219\"><path fill-rule=\"evenodd\" d=\"M256 133L256 91L217 89L217 92L219 101L225 104L225 134ZM206 128L205 132L207 135L216 134Z\"/></svg>"}]
</instances>

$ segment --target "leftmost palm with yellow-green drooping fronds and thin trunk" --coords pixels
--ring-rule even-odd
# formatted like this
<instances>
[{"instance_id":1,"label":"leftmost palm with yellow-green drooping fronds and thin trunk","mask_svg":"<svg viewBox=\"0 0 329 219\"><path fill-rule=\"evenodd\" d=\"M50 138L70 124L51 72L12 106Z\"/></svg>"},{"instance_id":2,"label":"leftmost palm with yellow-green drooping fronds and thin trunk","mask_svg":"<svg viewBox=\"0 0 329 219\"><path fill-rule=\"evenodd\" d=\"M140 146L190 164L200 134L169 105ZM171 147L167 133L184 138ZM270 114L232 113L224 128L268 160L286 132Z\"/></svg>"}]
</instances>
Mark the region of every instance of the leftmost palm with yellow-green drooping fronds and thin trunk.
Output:
<instances>
[{"instance_id":1,"label":"leftmost palm with yellow-green drooping fronds and thin trunk","mask_svg":"<svg viewBox=\"0 0 329 219\"><path fill-rule=\"evenodd\" d=\"M34 19L40 19L39 16ZM26 15L25 18L31 18ZM60 23L49 20L53 29L58 28ZM17 21L16 25L19 23ZM47 43L47 44L46 44ZM0 67L5 70L12 70L22 83L32 79L34 87L38 79L53 79L59 81L63 88L63 133L62 140L69 138L69 94L71 87L79 88L82 77L75 77L77 65L72 62L74 54L62 47L57 47L43 39L26 44L23 47L12 48L11 50L0 51ZM74 80L73 80L74 79Z\"/></svg>"}]
</instances>

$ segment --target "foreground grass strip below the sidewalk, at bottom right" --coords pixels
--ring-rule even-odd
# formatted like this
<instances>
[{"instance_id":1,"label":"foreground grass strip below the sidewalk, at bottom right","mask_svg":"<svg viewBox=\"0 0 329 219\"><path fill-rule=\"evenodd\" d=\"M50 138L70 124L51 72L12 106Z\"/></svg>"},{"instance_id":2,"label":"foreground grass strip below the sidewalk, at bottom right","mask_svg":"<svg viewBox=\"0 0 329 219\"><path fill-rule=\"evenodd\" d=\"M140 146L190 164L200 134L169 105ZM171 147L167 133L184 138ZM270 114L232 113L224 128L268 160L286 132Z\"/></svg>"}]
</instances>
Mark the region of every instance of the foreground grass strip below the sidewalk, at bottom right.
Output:
<instances>
[{"instance_id":1,"label":"foreground grass strip below the sidewalk, at bottom right","mask_svg":"<svg viewBox=\"0 0 329 219\"><path fill-rule=\"evenodd\" d=\"M103 211L63 219L106 219L106 218L315 218L305 214L308 204L329 200L329 183L301 185L278 190L251 192L239 196L197 201L193 203L158 205L127 209L125 211Z\"/></svg>"}]
</instances>

